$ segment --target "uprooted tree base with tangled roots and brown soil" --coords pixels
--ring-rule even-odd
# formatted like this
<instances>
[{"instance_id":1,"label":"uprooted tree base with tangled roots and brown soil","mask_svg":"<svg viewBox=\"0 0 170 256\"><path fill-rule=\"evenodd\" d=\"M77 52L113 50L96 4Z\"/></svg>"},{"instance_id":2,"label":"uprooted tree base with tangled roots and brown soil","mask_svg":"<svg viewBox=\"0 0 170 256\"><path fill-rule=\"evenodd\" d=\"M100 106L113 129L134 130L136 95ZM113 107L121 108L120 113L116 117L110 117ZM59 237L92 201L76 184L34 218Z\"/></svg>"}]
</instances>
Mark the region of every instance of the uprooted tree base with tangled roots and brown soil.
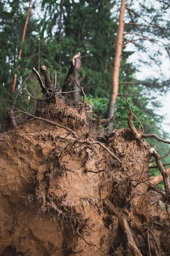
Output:
<instances>
[{"instance_id":1,"label":"uprooted tree base with tangled roots and brown soil","mask_svg":"<svg viewBox=\"0 0 170 256\"><path fill-rule=\"evenodd\" d=\"M170 142L144 134L123 96L129 129L102 133L116 118L93 115L83 81L69 76L82 99L66 99L41 69L35 113L8 109L0 134L0 255L169 255L170 180L144 138ZM165 191L150 177L152 157Z\"/></svg>"}]
</instances>

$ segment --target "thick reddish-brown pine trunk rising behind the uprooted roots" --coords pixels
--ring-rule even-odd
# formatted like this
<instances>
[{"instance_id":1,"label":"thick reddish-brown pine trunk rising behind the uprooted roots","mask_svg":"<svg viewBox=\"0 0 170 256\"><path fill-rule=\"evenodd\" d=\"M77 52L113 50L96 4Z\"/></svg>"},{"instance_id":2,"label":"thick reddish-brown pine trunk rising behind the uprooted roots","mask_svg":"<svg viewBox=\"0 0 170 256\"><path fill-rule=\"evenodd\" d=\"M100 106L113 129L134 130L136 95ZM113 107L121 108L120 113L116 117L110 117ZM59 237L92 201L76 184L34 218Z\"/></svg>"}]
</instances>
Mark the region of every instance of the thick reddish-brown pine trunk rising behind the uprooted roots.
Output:
<instances>
[{"instance_id":1,"label":"thick reddish-brown pine trunk rising behind the uprooted roots","mask_svg":"<svg viewBox=\"0 0 170 256\"><path fill-rule=\"evenodd\" d=\"M112 73L112 89L111 96L108 106L108 118L114 116L115 113L115 104L116 98L119 89L119 70L120 70L120 61L122 55L122 44L123 44L123 32L124 32L124 14L125 14L125 3L126 0L122 0L119 14L119 26L118 26L118 34L117 34L117 42L116 42L116 54L114 59L113 73ZM108 124L112 125L112 123Z\"/></svg>"}]
</instances>

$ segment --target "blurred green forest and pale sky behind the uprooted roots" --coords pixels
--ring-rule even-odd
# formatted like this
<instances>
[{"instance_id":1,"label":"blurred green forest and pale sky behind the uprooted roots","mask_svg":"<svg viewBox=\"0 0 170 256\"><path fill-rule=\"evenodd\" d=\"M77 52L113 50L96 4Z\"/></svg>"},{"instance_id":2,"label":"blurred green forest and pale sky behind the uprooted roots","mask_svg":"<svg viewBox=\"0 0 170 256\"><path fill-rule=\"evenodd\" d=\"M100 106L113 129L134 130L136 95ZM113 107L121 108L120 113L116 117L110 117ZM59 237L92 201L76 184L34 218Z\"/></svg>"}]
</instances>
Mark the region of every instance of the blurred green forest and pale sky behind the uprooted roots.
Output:
<instances>
[{"instance_id":1,"label":"blurred green forest and pale sky behind the uprooted roots","mask_svg":"<svg viewBox=\"0 0 170 256\"><path fill-rule=\"evenodd\" d=\"M24 41L23 29L31 9ZM0 122L7 117L6 108L15 105L34 112L34 97L42 97L32 67L48 67L62 87L68 74L69 60L81 52L82 67L79 75L84 79L86 99L94 105L94 113L107 117L111 93L111 79L116 52L121 1L116 0L1 0L0 1ZM18 58L22 47L21 58ZM114 125L127 128L129 109L121 93L127 93L135 114L144 122L144 131L167 140L170 134L162 129L164 116L158 114L164 96L170 88L170 78L161 70L162 61L170 57L170 4L163 0L130 0L126 3L123 51L119 73L119 93ZM133 57L135 61L132 63ZM163 56L163 57L162 57ZM17 68L18 67L18 68ZM157 76L137 79L136 73L156 70ZM14 75L17 84L12 92ZM159 76L158 76L159 74ZM21 88L22 87L22 88ZM71 90L72 85L70 84ZM17 98L16 98L17 96ZM119 126L117 125L119 123ZM148 125L147 125L148 124ZM136 127L139 128L136 123ZM152 139L149 140L153 144ZM163 157L169 146L157 143ZM170 156L162 159L170 163ZM152 169L157 175L159 170Z\"/></svg>"}]
</instances>

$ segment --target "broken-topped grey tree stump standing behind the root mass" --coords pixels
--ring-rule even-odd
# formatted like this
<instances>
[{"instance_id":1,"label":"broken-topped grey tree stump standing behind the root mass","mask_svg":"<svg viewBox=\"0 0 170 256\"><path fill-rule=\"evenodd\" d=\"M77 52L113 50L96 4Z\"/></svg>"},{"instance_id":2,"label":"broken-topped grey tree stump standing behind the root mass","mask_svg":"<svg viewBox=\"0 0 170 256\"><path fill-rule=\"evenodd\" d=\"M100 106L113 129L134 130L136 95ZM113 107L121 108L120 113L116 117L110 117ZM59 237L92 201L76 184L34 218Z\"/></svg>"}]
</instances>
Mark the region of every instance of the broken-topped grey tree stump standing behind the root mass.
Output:
<instances>
[{"instance_id":1,"label":"broken-topped grey tree stump standing behind the root mass","mask_svg":"<svg viewBox=\"0 0 170 256\"><path fill-rule=\"evenodd\" d=\"M82 66L80 52L73 57L73 65L74 65L74 77L77 83L80 85L80 74L78 71L79 68ZM73 93L74 99L77 100L80 98L80 88L77 86L77 84L73 84L73 89L76 91Z\"/></svg>"}]
</instances>

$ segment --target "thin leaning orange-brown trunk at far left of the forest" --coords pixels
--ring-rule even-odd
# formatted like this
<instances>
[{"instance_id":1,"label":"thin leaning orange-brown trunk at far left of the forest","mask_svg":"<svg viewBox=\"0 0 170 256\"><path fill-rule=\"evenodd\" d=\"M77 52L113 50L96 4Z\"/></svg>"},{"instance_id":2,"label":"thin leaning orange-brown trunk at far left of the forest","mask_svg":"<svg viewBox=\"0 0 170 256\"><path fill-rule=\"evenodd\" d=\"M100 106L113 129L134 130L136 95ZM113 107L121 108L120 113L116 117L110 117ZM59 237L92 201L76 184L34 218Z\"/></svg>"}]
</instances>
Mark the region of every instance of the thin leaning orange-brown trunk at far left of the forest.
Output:
<instances>
[{"instance_id":1,"label":"thin leaning orange-brown trunk at far left of the forest","mask_svg":"<svg viewBox=\"0 0 170 256\"><path fill-rule=\"evenodd\" d=\"M18 61L20 60L22 52L23 52L23 48L22 48L23 47L23 41L25 40L25 37L26 37L26 29L27 29L27 25L28 25L30 15L31 15L31 11L34 8L34 4L35 4L35 2L33 3L32 7L30 8L31 0L29 0L28 15L26 17L25 26L24 26L24 29L23 29L23 37L22 37L22 42L21 42L19 54L18 54ZM18 69L19 69L19 64L17 65L16 70L18 71ZM13 86L12 86L12 93L14 93L14 91L15 91L16 84L17 84L17 72L14 74L14 82L13 82Z\"/></svg>"}]
</instances>

